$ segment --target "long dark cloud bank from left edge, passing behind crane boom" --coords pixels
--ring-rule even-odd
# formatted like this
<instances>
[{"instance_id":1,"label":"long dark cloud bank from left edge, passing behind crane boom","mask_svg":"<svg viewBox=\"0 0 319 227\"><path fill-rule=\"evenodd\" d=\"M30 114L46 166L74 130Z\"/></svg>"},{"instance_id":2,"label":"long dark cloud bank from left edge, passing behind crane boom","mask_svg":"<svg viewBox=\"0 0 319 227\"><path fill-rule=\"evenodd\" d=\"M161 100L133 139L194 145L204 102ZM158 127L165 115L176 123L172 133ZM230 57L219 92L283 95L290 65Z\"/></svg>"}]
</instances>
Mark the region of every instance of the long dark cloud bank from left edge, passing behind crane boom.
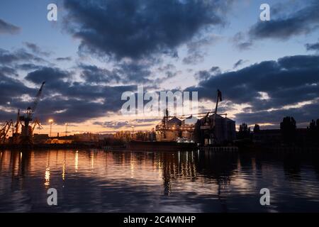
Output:
<instances>
[{"instance_id":1,"label":"long dark cloud bank from left edge, passing behind crane boom","mask_svg":"<svg viewBox=\"0 0 319 227\"><path fill-rule=\"evenodd\" d=\"M125 101L121 101L123 92L136 90L136 86L104 86L86 82L70 82L72 72L52 67L41 67L28 73L26 79L36 84L35 88L26 87L17 79L6 77L0 72L1 106L16 111L26 109L32 104L32 99L26 99L23 94L34 97L40 83L46 81L43 96L38 104L35 117L41 121L54 118L57 123L80 123L91 118L108 116L108 113L118 112ZM6 121L16 117L16 112L1 111L0 120Z\"/></svg>"}]
</instances>

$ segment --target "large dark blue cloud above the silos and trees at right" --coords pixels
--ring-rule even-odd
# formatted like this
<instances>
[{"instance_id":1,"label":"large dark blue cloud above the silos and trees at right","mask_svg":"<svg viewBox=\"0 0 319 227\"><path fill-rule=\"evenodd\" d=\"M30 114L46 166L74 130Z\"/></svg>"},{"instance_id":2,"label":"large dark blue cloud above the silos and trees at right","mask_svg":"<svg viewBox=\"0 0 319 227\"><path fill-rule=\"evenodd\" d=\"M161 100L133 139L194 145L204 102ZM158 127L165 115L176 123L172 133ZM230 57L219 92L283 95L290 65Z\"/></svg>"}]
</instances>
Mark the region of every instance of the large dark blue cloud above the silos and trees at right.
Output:
<instances>
[{"instance_id":1,"label":"large dark blue cloud above the silos and trees at right","mask_svg":"<svg viewBox=\"0 0 319 227\"><path fill-rule=\"evenodd\" d=\"M233 104L250 104L253 115L255 112L281 109L283 106L317 99L318 63L319 56L296 55L217 75L202 71L200 73L208 79L187 90L197 91L200 99L215 101L216 90L220 89L225 100ZM262 93L267 94L269 99L264 98Z\"/></svg>"}]
</instances>

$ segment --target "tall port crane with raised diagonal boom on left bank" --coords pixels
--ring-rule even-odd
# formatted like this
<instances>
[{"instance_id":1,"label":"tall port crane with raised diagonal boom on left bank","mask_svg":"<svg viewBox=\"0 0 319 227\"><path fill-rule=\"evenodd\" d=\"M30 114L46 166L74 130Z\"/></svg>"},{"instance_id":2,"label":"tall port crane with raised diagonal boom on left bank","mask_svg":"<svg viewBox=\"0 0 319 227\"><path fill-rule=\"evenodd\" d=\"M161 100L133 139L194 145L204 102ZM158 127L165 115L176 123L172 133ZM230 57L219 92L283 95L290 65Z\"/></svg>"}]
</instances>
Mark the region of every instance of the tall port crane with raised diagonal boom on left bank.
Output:
<instances>
[{"instance_id":1,"label":"tall port crane with raised diagonal boom on left bank","mask_svg":"<svg viewBox=\"0 0 319 227\"><path fill-rule=\"evenodd\" d=\"M21 129L21 140L20 143L22 144L32 144L32 135L33 135L33 130L35 128L35 125L39 125L39 121L35 120L33 122L33 127L30 126L30 122L33 121L33 114L35 112L35 109L38 106L38 102L40 100L40 96L42 94L43 86L45 82L42 83L38 93L35 96L35 99L33 101L33 106L29 106L23 116L18 115L18 122L21 123L22 129ZM19 124L17 122L17 125Z\"/></svg>"}]
</instances>

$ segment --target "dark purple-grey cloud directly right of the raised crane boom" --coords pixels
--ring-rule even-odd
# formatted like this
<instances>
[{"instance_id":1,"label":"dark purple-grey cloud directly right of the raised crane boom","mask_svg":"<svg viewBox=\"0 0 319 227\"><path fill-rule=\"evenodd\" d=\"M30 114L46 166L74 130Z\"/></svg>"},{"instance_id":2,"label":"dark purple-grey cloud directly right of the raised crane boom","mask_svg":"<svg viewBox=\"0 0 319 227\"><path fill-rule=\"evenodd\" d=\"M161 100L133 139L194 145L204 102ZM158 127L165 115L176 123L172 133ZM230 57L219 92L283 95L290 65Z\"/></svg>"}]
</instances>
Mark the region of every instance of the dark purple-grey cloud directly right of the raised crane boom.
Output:
<instances>
[{"instance_id":1,"label":"dark purple-grey cloud directly right of the raised crane boom","mask_svg":"<svg viewBox=\"0 0 319 227\"><path fill-rule=\"evenodd\" d=\"M108 116L111 112L118 112L125 101L121 95L126 91L134 91L133 86L98 86L84 83L65 84L60 89L59 96L50 96L51 89L44 90L44 99L38 110L38 115L43 118L55 118L58 123L80 123ZM57 91L57 89L55 89Z\"/></svg>"}]
</instances>

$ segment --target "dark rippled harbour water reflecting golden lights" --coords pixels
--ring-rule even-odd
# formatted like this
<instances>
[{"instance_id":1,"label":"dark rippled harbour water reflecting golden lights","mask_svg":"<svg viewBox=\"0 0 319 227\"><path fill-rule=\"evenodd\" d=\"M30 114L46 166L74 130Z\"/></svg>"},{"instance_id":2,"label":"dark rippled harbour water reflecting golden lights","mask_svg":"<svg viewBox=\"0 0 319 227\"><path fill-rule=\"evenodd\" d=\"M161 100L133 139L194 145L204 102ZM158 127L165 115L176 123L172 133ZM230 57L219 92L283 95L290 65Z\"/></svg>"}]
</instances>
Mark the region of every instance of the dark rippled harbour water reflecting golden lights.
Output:
<instances>
[{"instance_id":1,"label":"dark rippled harbour water reflecting golden lights","mask_svg":"<svg viewBox=\"0 0 319 227\"><path fill-rule=\"evenodd\" d=\"M57 189L57 206L47 189ZM261 206L260 189L270 190ZM0 211L319 211L318 155L0 152Z\"/></svg>"}]
</instances>

